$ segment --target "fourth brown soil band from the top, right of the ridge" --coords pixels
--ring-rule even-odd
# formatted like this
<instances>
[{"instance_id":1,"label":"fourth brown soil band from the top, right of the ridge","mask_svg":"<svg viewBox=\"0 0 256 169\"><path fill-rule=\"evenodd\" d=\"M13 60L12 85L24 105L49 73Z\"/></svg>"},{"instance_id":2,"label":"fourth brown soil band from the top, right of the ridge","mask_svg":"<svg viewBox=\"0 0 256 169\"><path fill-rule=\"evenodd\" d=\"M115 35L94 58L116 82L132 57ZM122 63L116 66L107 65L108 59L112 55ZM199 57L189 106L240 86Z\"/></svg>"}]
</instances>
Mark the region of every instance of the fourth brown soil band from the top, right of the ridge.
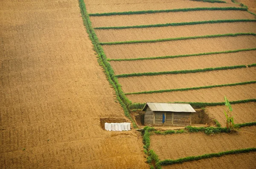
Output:
<instances>
[{"instance_id":1,"label":"fourth brown soil band from the top, right of the ridge","mask_svg":"<svg viewBox=\"0 0 256 169\"><path fill-rule=\"evenodd\" d=\"M256 48L255 36L216 37L103 46L105 54L110 59L198 54L245 48Z\"/></svg>"}]
</instances>

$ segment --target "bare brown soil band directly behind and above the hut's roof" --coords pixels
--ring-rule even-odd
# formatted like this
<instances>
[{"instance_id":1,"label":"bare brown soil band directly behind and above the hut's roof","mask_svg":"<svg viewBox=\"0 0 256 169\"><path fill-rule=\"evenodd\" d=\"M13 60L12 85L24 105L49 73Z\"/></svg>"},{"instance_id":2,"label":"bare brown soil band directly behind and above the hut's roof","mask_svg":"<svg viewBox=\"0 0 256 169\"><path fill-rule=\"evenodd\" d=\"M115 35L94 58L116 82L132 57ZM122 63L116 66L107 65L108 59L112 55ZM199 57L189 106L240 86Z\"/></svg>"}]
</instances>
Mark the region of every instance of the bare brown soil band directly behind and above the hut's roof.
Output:
<instances>
[{"instance_id":1,"label":"bare brown soil band directly behind and above the hut's roof","mask_svg":"<svg viewBox=\"0 0 256 169\"><path fill-rule=\"evenodd\" d=\"M229 101L255 99L256 84L216 87L200 90L176 91L127 95L132 102L223 102L224 96Z\"/></svg>"}]
</instances>

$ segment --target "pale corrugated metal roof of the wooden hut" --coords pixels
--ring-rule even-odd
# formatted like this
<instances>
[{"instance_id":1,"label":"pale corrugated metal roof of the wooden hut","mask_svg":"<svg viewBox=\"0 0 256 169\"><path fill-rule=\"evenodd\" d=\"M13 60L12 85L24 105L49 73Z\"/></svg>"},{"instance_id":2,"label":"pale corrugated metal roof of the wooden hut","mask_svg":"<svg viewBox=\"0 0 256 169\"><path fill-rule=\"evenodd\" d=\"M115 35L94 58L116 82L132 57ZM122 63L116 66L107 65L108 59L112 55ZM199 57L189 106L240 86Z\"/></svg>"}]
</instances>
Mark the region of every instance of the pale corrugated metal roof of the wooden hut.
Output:
<instances>
[{"instance_id":1,"label":"pale corrugated metal roof of the wooden hut","mask_svg":"<svg viewBox=\"0 0 256 169\"><path fill-rule=\"evenodd\" d=\"M184 103L152 103L147 102L145 107L148 105L148 107L152 111L164 111L164 112L195 112L193 107L190 104L184 104ZM145 109L143 108L143 111Z\"/></svg>"}]
</instances>

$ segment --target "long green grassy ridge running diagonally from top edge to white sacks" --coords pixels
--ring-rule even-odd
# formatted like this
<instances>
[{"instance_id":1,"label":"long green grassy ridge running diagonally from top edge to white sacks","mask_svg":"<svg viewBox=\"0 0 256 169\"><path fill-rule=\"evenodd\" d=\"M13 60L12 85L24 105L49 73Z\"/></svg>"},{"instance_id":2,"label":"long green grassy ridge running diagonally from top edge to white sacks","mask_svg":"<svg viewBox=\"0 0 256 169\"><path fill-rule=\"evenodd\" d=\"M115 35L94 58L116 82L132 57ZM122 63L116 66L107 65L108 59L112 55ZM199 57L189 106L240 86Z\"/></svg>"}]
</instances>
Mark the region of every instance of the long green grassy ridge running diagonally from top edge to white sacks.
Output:
<instances>
[{"instance_id":1,"label":"long green grassy ridge running diagonally from top edge to white sacks","mask_svg":"<svg viewBox=\"0 0 256 169\"><path fill-rule=\"evenodd\" d=\"M122 92L121 85L119 85L117 78L114 76L114 71L111 68L111 65L109 64L101 45L99 45L99 39L97 38L96 33L93 30L93 27L91 25L89 15L87 14L86 7L84 4L84 0L79 0L79 7L81 10L81 15L82 15L82 19L84 22L84 26L86 27L87 33L89 34L89 37L90 37L90 40L93 43L93 47L99 56L99 58L98 58L99 65L101 65L104 68L108 82L113 86L113 88L116 92L116 99L121 104L121 106L124 110L125 116L127 116L129 119L131 119L134 127L137 127L134 120L131 118L131 115L127 108L127 106L129 106L131 104L131 101L128 100L126 98L125 94Z\"/></svg>"}]
</instances>

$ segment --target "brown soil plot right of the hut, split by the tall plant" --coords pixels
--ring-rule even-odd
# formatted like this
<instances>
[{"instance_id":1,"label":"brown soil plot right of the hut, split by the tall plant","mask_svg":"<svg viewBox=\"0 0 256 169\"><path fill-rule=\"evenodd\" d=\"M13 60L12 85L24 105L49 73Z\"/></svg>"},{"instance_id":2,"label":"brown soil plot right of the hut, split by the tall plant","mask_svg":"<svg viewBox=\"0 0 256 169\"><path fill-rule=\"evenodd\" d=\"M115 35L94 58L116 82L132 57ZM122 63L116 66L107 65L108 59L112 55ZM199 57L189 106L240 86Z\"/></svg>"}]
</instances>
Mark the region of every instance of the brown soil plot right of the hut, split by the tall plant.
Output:
<instances>
[{"instance_id":1,"label":"brown soil plot right of the hut, split by the tall plant","mask_svg":"<svg viewBox=\"0 0 256 169\"><path fill-rule=\"evenodd\" d=\"M232 104L232 115L234 115L235 123L247 123L256 121L256 103L241 103L241 104ZM206 107L206 113L210 117L215 118L221 124L221 126L226 126L226 118L224 116L225 106L210 106Z\"/></svg>"}]
</instances>

